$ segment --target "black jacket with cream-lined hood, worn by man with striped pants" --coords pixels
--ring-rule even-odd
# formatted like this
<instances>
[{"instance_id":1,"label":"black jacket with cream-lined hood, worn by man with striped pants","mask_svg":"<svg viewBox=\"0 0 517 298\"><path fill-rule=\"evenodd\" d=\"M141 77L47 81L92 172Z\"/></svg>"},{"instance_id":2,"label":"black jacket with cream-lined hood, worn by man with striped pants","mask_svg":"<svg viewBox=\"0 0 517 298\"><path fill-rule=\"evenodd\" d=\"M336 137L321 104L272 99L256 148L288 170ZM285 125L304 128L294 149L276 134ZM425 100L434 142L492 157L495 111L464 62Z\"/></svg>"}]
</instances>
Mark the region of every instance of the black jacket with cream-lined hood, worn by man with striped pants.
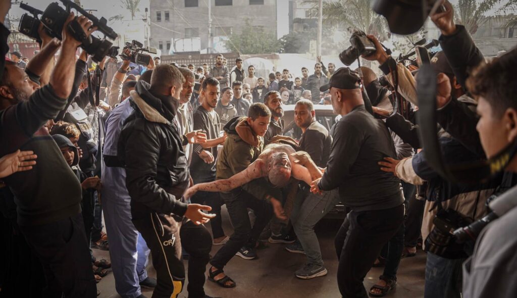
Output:
<instances>
[{"instance_id":1,"label":"black jacket with cream-lined hood, worn by man with striped pants","mask_svg":"<svg viewBox=\"0 0 517 298\"><path fill-rule=\"evenodd\" d=\"M150 212L183 216L181 197L189 185L183 138L174 122L179 101L154 94L140 81L131 91L134 112L120 132L118 156L126 168L133 219Z\"/></svg>"}]
</instances>

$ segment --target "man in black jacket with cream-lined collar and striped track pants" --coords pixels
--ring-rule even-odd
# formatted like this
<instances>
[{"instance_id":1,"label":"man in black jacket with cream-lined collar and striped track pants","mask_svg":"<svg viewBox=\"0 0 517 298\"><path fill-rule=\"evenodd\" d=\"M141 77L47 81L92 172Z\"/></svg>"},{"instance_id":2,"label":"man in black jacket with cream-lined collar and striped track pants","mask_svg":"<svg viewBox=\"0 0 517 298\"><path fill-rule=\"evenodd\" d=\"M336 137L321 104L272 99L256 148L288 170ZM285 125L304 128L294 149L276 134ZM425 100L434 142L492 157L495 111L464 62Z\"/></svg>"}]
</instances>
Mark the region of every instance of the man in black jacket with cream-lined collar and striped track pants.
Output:
<instances>
[{"instance_id":1,"label":"man in black jacket with cream-lined collar and striped track pants","mask_svg":"<svg viewBox=\"0 0 517 298\"><path fill-rule=\"evenodd\" d=\"M135 111L127 118L118 142L131 196L132 221L153 255L157 272L155 297L177 297L183 288L185 268L179 240L182 217L184 225L200 225L213 217L201 211L210 211L209 206L181 201L190 179L183 137L175 122L177 98L184 80L177 68L162 64L153 70L150 85L138 82L130 99ZM195 246L193 241L185 239L184 246ZM200 251L191 258L205 255L206 259L200 261L206 266L208 254ZM203 277L194 283L190 280L189 284L201 287L199 295L204 297L205 267L191 270L202 270Z\"/></svg>"}]
</instances>

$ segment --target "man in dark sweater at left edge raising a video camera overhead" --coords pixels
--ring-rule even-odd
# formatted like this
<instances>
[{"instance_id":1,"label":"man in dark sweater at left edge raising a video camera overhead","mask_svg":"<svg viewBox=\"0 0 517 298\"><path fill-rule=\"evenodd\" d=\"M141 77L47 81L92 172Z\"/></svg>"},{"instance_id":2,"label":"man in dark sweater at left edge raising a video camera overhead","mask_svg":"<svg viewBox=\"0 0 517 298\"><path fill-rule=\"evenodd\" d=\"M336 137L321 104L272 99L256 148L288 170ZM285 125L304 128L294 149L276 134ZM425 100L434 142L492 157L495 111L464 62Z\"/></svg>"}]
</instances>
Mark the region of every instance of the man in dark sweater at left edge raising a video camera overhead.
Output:
<instances>
[{"instance_id":1,"label":"man in dark sweater at left edge raising a video camera overhead","mask_svg":"<svg viewBox=\"0 0 517 298\"><path fill-rule=\"evenodd\" d=\"M81 185L43 128L65 108L72 89L75 51L81 44L68 29L72 21L76 22L73 13L63 26L61 53L48 85L33 92L25 72L6 62L0 82L0 155L18 148L38 155L32 170L4 181L16 196L20 229L43 265L45 294L96 297L81 216ZM96 29L83 16L77 22L87 36Z\"/></svg>"}]
</instances>

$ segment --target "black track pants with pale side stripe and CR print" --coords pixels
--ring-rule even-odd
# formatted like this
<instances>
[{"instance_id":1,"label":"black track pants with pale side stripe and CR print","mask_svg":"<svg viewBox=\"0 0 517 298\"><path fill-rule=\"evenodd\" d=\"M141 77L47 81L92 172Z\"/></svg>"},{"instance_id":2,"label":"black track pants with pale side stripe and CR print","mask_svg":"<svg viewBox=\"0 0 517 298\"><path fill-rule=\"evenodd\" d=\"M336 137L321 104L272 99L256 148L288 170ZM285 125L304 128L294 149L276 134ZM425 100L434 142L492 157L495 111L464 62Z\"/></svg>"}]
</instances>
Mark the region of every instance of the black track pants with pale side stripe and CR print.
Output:
<instances>
[{"instance_id":1,"label":"black track pants with pale side stripe and CR print","mask_svg":"<svg viewBox=\"0 0 517 298\"><path fill-rule=\"evenodd\" d=\"M212 245L206 228L196 226L191 221L181 225L172 216L159 213L149 213L132 221L153 256L157 275L153 298L176 298L183 290L185 266L181 259L182 244L190 255L189 298L204 297L205 270Z\"/></svg>"}]
</instances>

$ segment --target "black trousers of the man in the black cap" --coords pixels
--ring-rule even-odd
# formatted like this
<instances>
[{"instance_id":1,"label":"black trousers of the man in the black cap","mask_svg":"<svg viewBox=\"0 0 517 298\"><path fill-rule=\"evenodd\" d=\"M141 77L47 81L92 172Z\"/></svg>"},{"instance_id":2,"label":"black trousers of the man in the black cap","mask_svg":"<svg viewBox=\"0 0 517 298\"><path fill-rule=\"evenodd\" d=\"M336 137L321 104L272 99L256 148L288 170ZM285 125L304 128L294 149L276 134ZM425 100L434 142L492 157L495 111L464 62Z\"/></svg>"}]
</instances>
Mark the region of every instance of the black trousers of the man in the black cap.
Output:
<instances>
[{"instance_id":1,"label":"black trousers of the man in the black cap","mask_svg":"<svg viewBox=\"0 0 517 298\"><path fill-rule=\"evenodd\" d=\"M347 214L334 243L339 259L338 286L344 298L368 297L362 281L403 221L404 205Z\"/></svg>"}]
</instances>

